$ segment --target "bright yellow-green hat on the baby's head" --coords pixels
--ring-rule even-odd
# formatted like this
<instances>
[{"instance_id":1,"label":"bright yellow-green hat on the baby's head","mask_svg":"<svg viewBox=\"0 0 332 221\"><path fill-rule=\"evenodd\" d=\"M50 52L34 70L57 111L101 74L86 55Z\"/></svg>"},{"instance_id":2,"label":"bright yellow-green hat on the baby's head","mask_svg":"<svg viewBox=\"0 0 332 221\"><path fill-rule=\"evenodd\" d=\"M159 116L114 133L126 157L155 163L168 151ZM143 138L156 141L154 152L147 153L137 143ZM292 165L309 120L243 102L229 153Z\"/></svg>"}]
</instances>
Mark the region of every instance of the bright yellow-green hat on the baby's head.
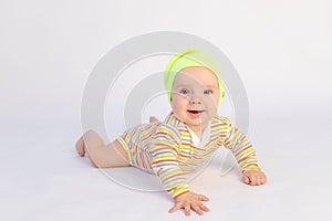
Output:
<instances>
[{"instance_id":1,"label":"bright yellow-green hat on the baby's head","mask_svg":"<svg viewBox=\"0 0 332 221\"><path fill-rule=\"evenodd\" d=\"M183 53L179 53L169 61L164 76L164 84L168 92L168 102L170 103L172 101L172 90L176 74L181 70L190 66L207 67L215 73L218 80L218 86L220 91L218 104L220 105L225 96L225 87L220 77L220 70L209 54L196 49L190 49Z\"/></svg>"}]
</instances>

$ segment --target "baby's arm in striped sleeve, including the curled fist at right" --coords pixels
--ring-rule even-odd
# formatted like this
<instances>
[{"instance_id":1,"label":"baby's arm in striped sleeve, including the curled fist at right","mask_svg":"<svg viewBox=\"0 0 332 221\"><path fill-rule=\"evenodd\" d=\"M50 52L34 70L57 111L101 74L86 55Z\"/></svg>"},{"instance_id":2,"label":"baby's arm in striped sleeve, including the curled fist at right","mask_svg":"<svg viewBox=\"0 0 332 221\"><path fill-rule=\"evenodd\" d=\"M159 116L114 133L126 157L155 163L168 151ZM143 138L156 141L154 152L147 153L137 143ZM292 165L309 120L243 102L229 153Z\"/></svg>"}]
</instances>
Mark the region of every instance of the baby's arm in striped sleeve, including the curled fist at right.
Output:
<instances>
[{"instance_id":1,"label":"baby's arm in striped sleeve, including the curled fist at right","mask_svg":"<svg viewBox=\"0 0 332 221\"><path fill-rule=\"evenodd\" d=\"M259 186L267 182L266 175L261 171L256 151L248 138L230 122L225 147L231 149L240 168L242 169L243 182L251 186Z\"/></svg>"}]
</instances>

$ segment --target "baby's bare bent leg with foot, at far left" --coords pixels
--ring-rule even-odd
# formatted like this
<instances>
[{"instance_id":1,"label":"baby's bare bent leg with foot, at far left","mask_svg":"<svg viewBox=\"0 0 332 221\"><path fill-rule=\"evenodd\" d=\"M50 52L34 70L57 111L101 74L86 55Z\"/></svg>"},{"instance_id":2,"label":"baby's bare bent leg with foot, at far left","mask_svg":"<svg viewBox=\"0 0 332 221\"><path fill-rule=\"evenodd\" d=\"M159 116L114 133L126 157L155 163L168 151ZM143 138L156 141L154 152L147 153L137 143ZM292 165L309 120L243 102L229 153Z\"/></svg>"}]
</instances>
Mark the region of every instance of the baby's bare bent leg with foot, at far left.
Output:
<instances>
[{"instance_id":1,"label":"baby's bare bent leg with foot, at far left","mask_svg":"<svg viewBox=\"0 0 332 221\"><path fill-rule=\"evenodd\" d=\"M97 168L125 167L129 166L127 155L120 144L114 140L105 145L103 139L93 130L86 131L76 143L76 150L81 157L85 152Z\"/></svg>"}]
</instances>

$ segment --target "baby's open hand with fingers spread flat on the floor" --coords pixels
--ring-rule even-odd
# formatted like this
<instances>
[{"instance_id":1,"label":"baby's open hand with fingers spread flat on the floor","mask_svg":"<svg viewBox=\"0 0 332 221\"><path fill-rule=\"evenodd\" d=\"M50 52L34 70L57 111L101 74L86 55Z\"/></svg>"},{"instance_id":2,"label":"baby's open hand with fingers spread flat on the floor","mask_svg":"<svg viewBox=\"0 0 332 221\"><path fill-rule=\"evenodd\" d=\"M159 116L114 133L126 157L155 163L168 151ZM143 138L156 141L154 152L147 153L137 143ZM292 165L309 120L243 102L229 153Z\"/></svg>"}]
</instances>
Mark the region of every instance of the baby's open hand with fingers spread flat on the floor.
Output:
<instances>
[{"instance_id":1,"label":"baby's open hand with fingers spread flat on the floor","mask_svg":"<svg viewBox=\"0 0 332 221\"><path fill-rule=\"evenodd\" d=\"M190 210L194 210L197 214L203 215L204 212L208 212L210 210L200 201L209 201L209 198L195 192L186 192L176 199L175 206L168 212L175 212L176 210L184 209L186 215L190 215Z\"/></svg>"}]
</instances>

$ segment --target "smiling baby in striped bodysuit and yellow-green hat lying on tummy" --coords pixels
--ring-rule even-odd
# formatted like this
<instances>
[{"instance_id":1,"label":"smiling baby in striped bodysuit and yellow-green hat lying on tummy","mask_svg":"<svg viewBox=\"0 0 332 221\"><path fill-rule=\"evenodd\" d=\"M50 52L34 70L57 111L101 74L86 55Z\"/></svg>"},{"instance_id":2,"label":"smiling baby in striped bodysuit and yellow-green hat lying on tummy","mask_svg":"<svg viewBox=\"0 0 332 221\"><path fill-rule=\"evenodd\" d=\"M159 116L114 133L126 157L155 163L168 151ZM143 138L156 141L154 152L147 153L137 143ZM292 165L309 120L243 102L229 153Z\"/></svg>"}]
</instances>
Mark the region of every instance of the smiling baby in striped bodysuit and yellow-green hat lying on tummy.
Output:
<instances>
[{"instance_id":1,"label":"smiling baby in striped bodysuit and yellow-green hat lying on tummy","mask_svg":"<svg viewBox=\"0 0 332 221\"><path fill-rule=\"evenodd\" d=\"M76 143L80 156L87 154L98 168L134 166L155 173L175 200L169 210L184 209L201 215L209 199L193 192L185 173L204 165L221 146L230 149L242 170L243 182L251 186L267 181L255 149L228 118L217 116L225 96L220 71L214 60L199 50L174 56L165 72L172 112L163 123L138 125L105 145L93 130Z\"/></svg>"}]
</instances>

